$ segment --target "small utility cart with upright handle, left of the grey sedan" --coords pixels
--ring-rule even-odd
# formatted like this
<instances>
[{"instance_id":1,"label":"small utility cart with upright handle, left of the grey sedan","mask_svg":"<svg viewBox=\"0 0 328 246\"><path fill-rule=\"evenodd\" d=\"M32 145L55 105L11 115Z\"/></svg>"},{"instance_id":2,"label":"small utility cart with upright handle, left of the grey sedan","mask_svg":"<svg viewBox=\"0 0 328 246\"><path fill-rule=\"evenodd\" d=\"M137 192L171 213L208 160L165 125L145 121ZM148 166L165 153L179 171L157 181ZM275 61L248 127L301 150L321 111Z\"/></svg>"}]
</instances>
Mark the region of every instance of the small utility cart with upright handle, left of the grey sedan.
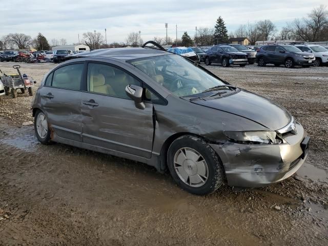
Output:
<instances>
[{"instance_id":1,"label":"small utility cart with upright handle, left of the grey sedan","mask_svg":"<svg viewBox=\"0 0 328 246\"><path fill-rule=\"evenodd\" d=\"M9 95L11 93L12 98L17 97L17 90L20 90L20 92L25 93L27 90L30 96L33 96L33 90L32 87L34 86L34 80L32 77L22 74L19 71L20 66L14 65L14 69L17 69L18 74L10 74L6 75L3 74L1 76L1 81L4 84L5 87L5 93L6 95Z\"/></svg>"}]
</instances>

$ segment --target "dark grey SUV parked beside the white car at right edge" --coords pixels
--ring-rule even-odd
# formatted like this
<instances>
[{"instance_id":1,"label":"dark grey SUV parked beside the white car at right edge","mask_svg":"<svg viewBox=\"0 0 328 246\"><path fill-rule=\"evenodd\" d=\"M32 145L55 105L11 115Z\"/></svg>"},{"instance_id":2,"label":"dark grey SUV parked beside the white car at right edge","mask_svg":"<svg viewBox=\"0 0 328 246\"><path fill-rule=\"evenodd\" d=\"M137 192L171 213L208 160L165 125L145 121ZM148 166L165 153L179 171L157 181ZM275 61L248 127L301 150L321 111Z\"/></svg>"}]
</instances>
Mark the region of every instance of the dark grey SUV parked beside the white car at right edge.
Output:
<instances>
[{"instance_id":1,"label":"dark grey SUV parked beside the white car at right edge","mask_svg":"<svg viewBox=\"0 0 328 246\"><path fill-rule=\"evenodd\" d=\"M315 60L313 54L302 52L292 45L262 46L256 53L256 58L260 67L274 64L276 67L284 65L286 68L293 68L295 65L310 67Z\"/></svg>"}]
</instances>

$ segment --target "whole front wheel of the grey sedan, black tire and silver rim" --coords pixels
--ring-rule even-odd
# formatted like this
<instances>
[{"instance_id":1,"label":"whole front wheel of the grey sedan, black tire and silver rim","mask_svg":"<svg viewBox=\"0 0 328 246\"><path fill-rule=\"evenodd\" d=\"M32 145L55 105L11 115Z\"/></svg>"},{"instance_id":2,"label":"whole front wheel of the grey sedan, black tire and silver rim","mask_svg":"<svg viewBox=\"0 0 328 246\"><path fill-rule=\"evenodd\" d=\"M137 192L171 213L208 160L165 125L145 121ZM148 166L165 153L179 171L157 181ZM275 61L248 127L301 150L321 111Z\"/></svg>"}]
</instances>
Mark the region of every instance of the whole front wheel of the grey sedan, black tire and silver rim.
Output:
<instances>
[{"instance_id":1,"label":"whole front wheel of the grey sedan, black tire and silver rim","mask_svg":"<svg viewBox=\"0 0 328 246\"><path fill-rule=\"evenodd\" d=\"M177 138L168 150L167 159L174 181L183 190L196 195L206 195L223 184L224 170L221 161L201 138L191 135Z\"/></svg>"}]
</instances>

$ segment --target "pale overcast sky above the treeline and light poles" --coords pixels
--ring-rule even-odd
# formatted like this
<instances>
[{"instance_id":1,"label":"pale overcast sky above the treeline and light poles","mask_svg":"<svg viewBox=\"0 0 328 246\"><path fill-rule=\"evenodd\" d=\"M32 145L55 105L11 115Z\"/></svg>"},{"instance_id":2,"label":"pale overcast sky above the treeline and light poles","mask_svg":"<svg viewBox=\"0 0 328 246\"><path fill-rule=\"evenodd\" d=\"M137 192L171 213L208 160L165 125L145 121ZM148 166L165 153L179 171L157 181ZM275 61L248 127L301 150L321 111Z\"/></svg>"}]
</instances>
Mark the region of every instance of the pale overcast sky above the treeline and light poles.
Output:
<instances>
[{"instance_id":1,"label":"pale overcast sky above the treeline and light poles","mask_svg":"<svg viewBox=\"0 0 328 246\"><path fill-rule=\"evenodd\" d=\"M214 27L222 16L228 31L240 24L271 19L278 29L294 18L306 16L326 0L202 0L202 1L144 1L144 0L2 0L0 37L8 33L25 33L32 38L38 32L49 40L66 38L68 44L78 42L87 31L99 31L107 43L124 42L128 33L141 31L144 41L154 36L175 38L187 31L195 35L195 27Z\"/></svg>"}]
</instances>

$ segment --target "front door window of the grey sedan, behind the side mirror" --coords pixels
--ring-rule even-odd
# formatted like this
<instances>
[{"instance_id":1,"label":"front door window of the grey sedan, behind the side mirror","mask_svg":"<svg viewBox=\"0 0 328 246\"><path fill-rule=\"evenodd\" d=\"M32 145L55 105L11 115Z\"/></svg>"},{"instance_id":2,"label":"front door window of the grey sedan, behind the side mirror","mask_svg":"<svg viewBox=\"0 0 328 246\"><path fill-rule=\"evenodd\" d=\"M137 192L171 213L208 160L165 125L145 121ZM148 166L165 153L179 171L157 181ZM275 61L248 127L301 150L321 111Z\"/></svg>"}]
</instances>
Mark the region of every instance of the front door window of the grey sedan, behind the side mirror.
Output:
<instances>
[{"instance_id":1,"label":"front door window of the grey sedan, behind the side mirror","mask_svg":"<svg viewBox=\"0 0 328 246\"><path fill-rule=\"evenodd\" d=\"M113 66L89 63L88 91L130 99L125 92L128 85L141 86L139 80Z\"/></svg>"}]
</instances>

